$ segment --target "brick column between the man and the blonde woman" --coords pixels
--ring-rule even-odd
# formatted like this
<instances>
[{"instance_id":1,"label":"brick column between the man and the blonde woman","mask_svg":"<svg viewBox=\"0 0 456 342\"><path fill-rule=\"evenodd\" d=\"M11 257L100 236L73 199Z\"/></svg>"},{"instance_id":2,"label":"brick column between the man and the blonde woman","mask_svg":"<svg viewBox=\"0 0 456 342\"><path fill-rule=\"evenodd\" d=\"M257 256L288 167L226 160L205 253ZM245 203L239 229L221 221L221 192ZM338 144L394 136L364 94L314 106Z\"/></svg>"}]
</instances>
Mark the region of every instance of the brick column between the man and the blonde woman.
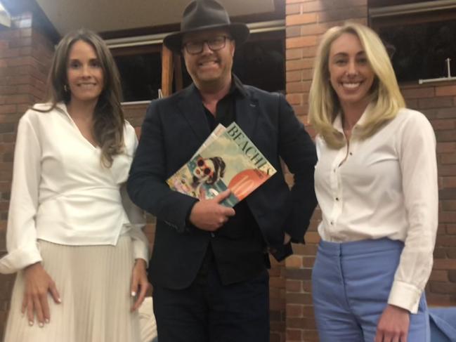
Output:
<instances>
[{"instance_id":1,"label":"brick column between the man and the blonde woman","mask_svg":"<svg viewBox=\"0 0 456 342\"><path fill-rule=\"evenodd\" d=\"M367 0L286 0L287 100L307 123L308 91L321 35L345 20L367 23ZM313 134L311 127L308 131ZM319 242L316 211L306 245L295 245L285 262L286 341L318 341L311 298L311 272Z\"/></svg>"}]
</instances>

